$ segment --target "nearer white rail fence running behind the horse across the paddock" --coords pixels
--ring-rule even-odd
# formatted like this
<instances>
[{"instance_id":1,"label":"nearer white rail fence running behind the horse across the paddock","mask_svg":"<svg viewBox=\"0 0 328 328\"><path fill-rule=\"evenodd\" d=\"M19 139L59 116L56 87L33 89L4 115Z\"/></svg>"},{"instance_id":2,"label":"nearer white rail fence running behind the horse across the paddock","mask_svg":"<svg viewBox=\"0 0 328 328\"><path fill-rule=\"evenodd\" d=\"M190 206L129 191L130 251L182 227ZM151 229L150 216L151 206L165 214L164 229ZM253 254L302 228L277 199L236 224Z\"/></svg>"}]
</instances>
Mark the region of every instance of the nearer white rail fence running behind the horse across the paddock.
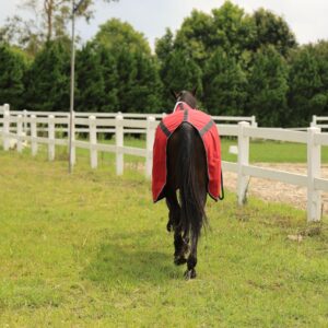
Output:
<instances>
[{"instance_id":1,"label":"nearer white rail fence running behind the horse across the paddock","mask_svg":"<svg viewBox=\"0 0 328 328\"><path fill-rule=\"evenodd\" d=\"M48 145L48 157L50 161L55 159L55 145L68 145L67 139L57 139L57 126L69 126L68 115L54 116L36 116L35 114L11 115L8 110L9 106L2 107L2 118L0 116L0 126L2 126L2 144L3 149L9 149L10 139L16 140L16 150L22 151L22 142L31 142L32 154L37 153L39 143ZM84 114L85 115L85 114ZM148 116L147 119L131 119L117 115L114 117L95 117L90 115L86 117L74 117L73 137L77 128L83 127L83 131L87 131L89 141L80 141L73 138L72 159L75 160L75 148L90 150L91 167L97 167L97 152L115 152L116 153L116 173L124 173L124 155L138 155L145 157L145 175L151 176L152 171L152 148L154 142L155 129L159 125L156 118L160 116ZM162 117L162 116L161 116ZM140 118L140 116L139 116ZM253 124L253 126L251 126ZM43 130L47 130L47 138L38 137L38 126L42 125ZM283 181L296 186L307 188L307 220L319 221L321 216L321 191L328 191L328 180L320 177L320 150L321 145L328 145L328 133L320 132L319 128L311 127L307 131L291 131L284 129L258 128L251 119L238 125L216 125L221 136L234 136L238 140L238 160L237 163L224 162L223 169L235 172L237 174L237 199L243 204L246 198L249 177L268 178ZM45 128L46 127L46 128ZM97 141L97 133L108 129L115 132L116 144L102 144ZM147 134L145 149L130 148L124 145L124 133L137 129ZM0 130L1 131L1 130ZM30 134L30 136L28 136ZM279 140L288 142L300 142L307 145L307 175L300 175L271 168L257 167L249 165L249 138L260 138L269 140Z\"/></svg>"}]
</instances>

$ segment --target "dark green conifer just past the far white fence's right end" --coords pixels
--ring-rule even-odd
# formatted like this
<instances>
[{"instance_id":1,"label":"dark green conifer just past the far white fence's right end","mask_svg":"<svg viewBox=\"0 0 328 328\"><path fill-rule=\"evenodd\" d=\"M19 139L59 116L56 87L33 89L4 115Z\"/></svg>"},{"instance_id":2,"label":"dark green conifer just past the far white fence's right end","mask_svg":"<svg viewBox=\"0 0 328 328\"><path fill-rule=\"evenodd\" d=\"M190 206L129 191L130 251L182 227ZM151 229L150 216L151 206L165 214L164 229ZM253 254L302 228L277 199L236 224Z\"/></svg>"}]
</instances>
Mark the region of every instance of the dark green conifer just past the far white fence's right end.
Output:
<instances>
[{"instance_id":1,"label":"dark green conifer just past the far white fence's right end","mask_svg":"<svg viewBox=\"0 0 328 328\"><path fill-rule=\"evenodd\" d=\"M259 49L248 78L248 114L262 126L286 125L288 66L273 46Z\"/></svg>"}]
</instances>

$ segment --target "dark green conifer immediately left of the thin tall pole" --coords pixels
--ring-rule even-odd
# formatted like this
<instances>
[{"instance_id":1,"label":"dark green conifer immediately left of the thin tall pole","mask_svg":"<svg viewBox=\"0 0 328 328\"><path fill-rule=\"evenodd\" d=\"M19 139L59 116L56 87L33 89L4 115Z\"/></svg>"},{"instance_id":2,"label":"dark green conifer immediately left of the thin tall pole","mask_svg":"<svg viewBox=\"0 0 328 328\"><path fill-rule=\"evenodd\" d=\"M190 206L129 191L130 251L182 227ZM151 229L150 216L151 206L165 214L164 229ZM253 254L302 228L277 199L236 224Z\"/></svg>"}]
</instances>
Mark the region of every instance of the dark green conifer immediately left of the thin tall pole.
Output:
<instances>
[{"instance_id":1,"label":"dark green conifer immediately left of the thin tall pole","mask_svg":"<svg viewBox=\"0 0 328 328\"><path fill-rule=\"evenodd\" d=\"M66 110L69 107L70 52L62 40L46 43L25 77L26 109Z\"/></svg>"}]
</instances>

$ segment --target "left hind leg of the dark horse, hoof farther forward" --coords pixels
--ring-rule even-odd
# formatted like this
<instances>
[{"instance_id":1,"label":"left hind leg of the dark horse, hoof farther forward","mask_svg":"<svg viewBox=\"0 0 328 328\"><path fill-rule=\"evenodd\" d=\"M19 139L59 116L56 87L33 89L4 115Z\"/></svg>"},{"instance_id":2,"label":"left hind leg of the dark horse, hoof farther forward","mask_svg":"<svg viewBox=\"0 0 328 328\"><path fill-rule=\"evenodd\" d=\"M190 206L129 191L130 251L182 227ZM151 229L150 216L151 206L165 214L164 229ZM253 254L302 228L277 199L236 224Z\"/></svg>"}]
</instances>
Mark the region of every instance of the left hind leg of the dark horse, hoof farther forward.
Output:
<instances>
[{"instance_id":1,"label":"left hind leg of the dark horse, hoof farther forward","mask_svg":"<svg viewBox=\"0 0 328 328\"><path fill-rule=\"evenodd\" d=\"M186 253L188 253L188 242L186 242L181 236L180 227L180 206L178 203L176 192L166 192L166 203L168 207L168 222L167 231L174 230L174 262L175 265L184 265L186 260Z\"/></svg>"}]
</instances>

